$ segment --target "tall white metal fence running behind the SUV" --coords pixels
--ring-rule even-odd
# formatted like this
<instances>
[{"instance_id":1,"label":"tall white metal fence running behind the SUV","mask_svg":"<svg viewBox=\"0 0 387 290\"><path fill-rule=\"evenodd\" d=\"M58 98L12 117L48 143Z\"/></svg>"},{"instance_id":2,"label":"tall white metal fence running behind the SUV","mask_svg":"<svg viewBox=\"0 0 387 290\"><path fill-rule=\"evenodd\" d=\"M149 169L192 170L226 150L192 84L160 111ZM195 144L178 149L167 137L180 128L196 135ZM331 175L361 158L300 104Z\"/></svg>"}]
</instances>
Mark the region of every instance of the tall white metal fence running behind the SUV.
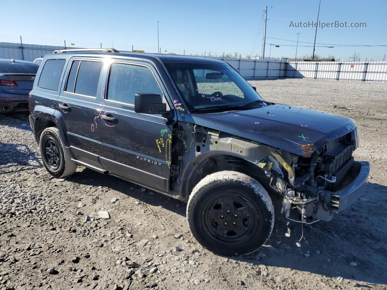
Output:
<instances>
[{"instance_id":1,"label":"tall white metal fence running behind the SUV","mask_svg":"<svg viewBox=\"0 0 387 290\"><path fill-rule=\"evenodd\" d=\"M67 47L68 48L68 47ZM72 47L75 48L75 47ZM64 46L0 42L0 58L33 61ZM193 56L194 57L194 56ZM224 60L244 78L321 78L328 80L352 80L361 82L387 82L387 61L290 61L256 60L247 58L207 58Z\"/></svg>"}]
</instances>

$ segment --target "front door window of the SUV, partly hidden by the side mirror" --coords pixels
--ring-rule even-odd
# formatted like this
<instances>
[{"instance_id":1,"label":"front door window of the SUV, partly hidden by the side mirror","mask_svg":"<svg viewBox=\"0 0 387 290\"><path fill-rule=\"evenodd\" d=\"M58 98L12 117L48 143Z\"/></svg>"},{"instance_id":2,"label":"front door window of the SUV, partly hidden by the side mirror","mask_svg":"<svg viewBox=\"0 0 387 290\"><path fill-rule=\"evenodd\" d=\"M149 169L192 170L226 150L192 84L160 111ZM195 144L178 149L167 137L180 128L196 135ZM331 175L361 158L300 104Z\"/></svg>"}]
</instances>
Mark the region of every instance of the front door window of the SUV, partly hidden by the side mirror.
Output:
<instances>
[{"instance_id":1,"label":"front door window of the SUV, partly hidden by the side mirror","mask_svg":"<svg viewBox=\"0 0 387 290\"><path fill-rule=\"evenodd\" d=\"M149 68L113 63L110 68L107 99L134 104L134 96L138 93L153 93L163 96Z\"/></svg>"}]
</instances>

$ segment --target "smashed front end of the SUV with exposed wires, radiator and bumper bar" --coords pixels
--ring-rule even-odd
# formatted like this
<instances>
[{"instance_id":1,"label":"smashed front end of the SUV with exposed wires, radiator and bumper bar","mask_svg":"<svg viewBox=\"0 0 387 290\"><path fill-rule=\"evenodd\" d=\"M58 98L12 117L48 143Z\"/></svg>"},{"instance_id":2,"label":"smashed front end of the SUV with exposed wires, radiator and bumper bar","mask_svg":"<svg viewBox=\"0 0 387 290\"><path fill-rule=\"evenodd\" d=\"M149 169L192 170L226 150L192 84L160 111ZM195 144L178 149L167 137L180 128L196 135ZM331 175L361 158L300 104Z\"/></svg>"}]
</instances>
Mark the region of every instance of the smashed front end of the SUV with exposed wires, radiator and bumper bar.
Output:
<instances>
[{"instance_id":1,"label":"smashed front end of the SUV with exposed wires, radiator and bumper bar","mask_svg":"<svg viewBox=\"0 0 387 290\"><path fill-rule=\"evenodd\" d=\"M329 221L354 203L368 183L370 165L354 161L358 147L356 128L319 148L301 145L302 155L284 150L271 152L261 168L270 186L281 194L283 217L299 223Z\"/></svg>"}]
</instances>

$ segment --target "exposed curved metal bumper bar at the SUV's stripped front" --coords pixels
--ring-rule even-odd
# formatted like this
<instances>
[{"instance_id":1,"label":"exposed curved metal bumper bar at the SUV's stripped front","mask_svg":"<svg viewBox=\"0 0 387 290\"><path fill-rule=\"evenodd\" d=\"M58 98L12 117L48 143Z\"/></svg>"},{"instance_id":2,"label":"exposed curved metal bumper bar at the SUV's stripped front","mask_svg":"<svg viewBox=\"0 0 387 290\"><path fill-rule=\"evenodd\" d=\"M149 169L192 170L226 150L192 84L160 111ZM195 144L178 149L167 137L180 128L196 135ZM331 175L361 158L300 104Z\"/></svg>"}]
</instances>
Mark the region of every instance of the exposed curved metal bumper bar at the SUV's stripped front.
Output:
<instances>
[{"instance_id":1,"label":"exposed curved metal bumper bar at the SUV's stripped front","mask_svg":"<svg viewBox=\"0 0 387 290\"><path fill-rule=\"evenodd\" d=\"M352 205L364 193L370 175L370 163L354 161L351 170L347 173L348 179L344 188L330 193L330 210L342 212Z\"/></svg>"}]
</instances>

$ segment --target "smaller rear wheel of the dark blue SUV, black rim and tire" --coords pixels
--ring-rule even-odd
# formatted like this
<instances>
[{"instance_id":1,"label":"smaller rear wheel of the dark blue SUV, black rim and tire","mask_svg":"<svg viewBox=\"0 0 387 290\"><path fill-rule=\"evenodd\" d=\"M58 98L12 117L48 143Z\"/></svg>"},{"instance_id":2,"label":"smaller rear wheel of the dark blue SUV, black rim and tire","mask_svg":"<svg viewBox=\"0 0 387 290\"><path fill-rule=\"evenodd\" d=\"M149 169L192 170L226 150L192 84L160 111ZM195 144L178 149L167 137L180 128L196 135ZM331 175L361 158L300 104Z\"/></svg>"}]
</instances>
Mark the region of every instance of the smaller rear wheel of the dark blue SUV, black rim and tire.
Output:
<instances>
[{"instance_id":1,"label":"smaller rear wheel of the dark blue SUV, black rim and tire","mask_svg":"<svg viewBox=\"0 0 387 290\"><path fill-rule=\"evenodd\" d=\"M43 130L39 141L43 165L53 177L62 178L75 172L77 165L71 161L57 127ZM48 152L46 153L46 149Z\"/></svg>"}]
</instances>

